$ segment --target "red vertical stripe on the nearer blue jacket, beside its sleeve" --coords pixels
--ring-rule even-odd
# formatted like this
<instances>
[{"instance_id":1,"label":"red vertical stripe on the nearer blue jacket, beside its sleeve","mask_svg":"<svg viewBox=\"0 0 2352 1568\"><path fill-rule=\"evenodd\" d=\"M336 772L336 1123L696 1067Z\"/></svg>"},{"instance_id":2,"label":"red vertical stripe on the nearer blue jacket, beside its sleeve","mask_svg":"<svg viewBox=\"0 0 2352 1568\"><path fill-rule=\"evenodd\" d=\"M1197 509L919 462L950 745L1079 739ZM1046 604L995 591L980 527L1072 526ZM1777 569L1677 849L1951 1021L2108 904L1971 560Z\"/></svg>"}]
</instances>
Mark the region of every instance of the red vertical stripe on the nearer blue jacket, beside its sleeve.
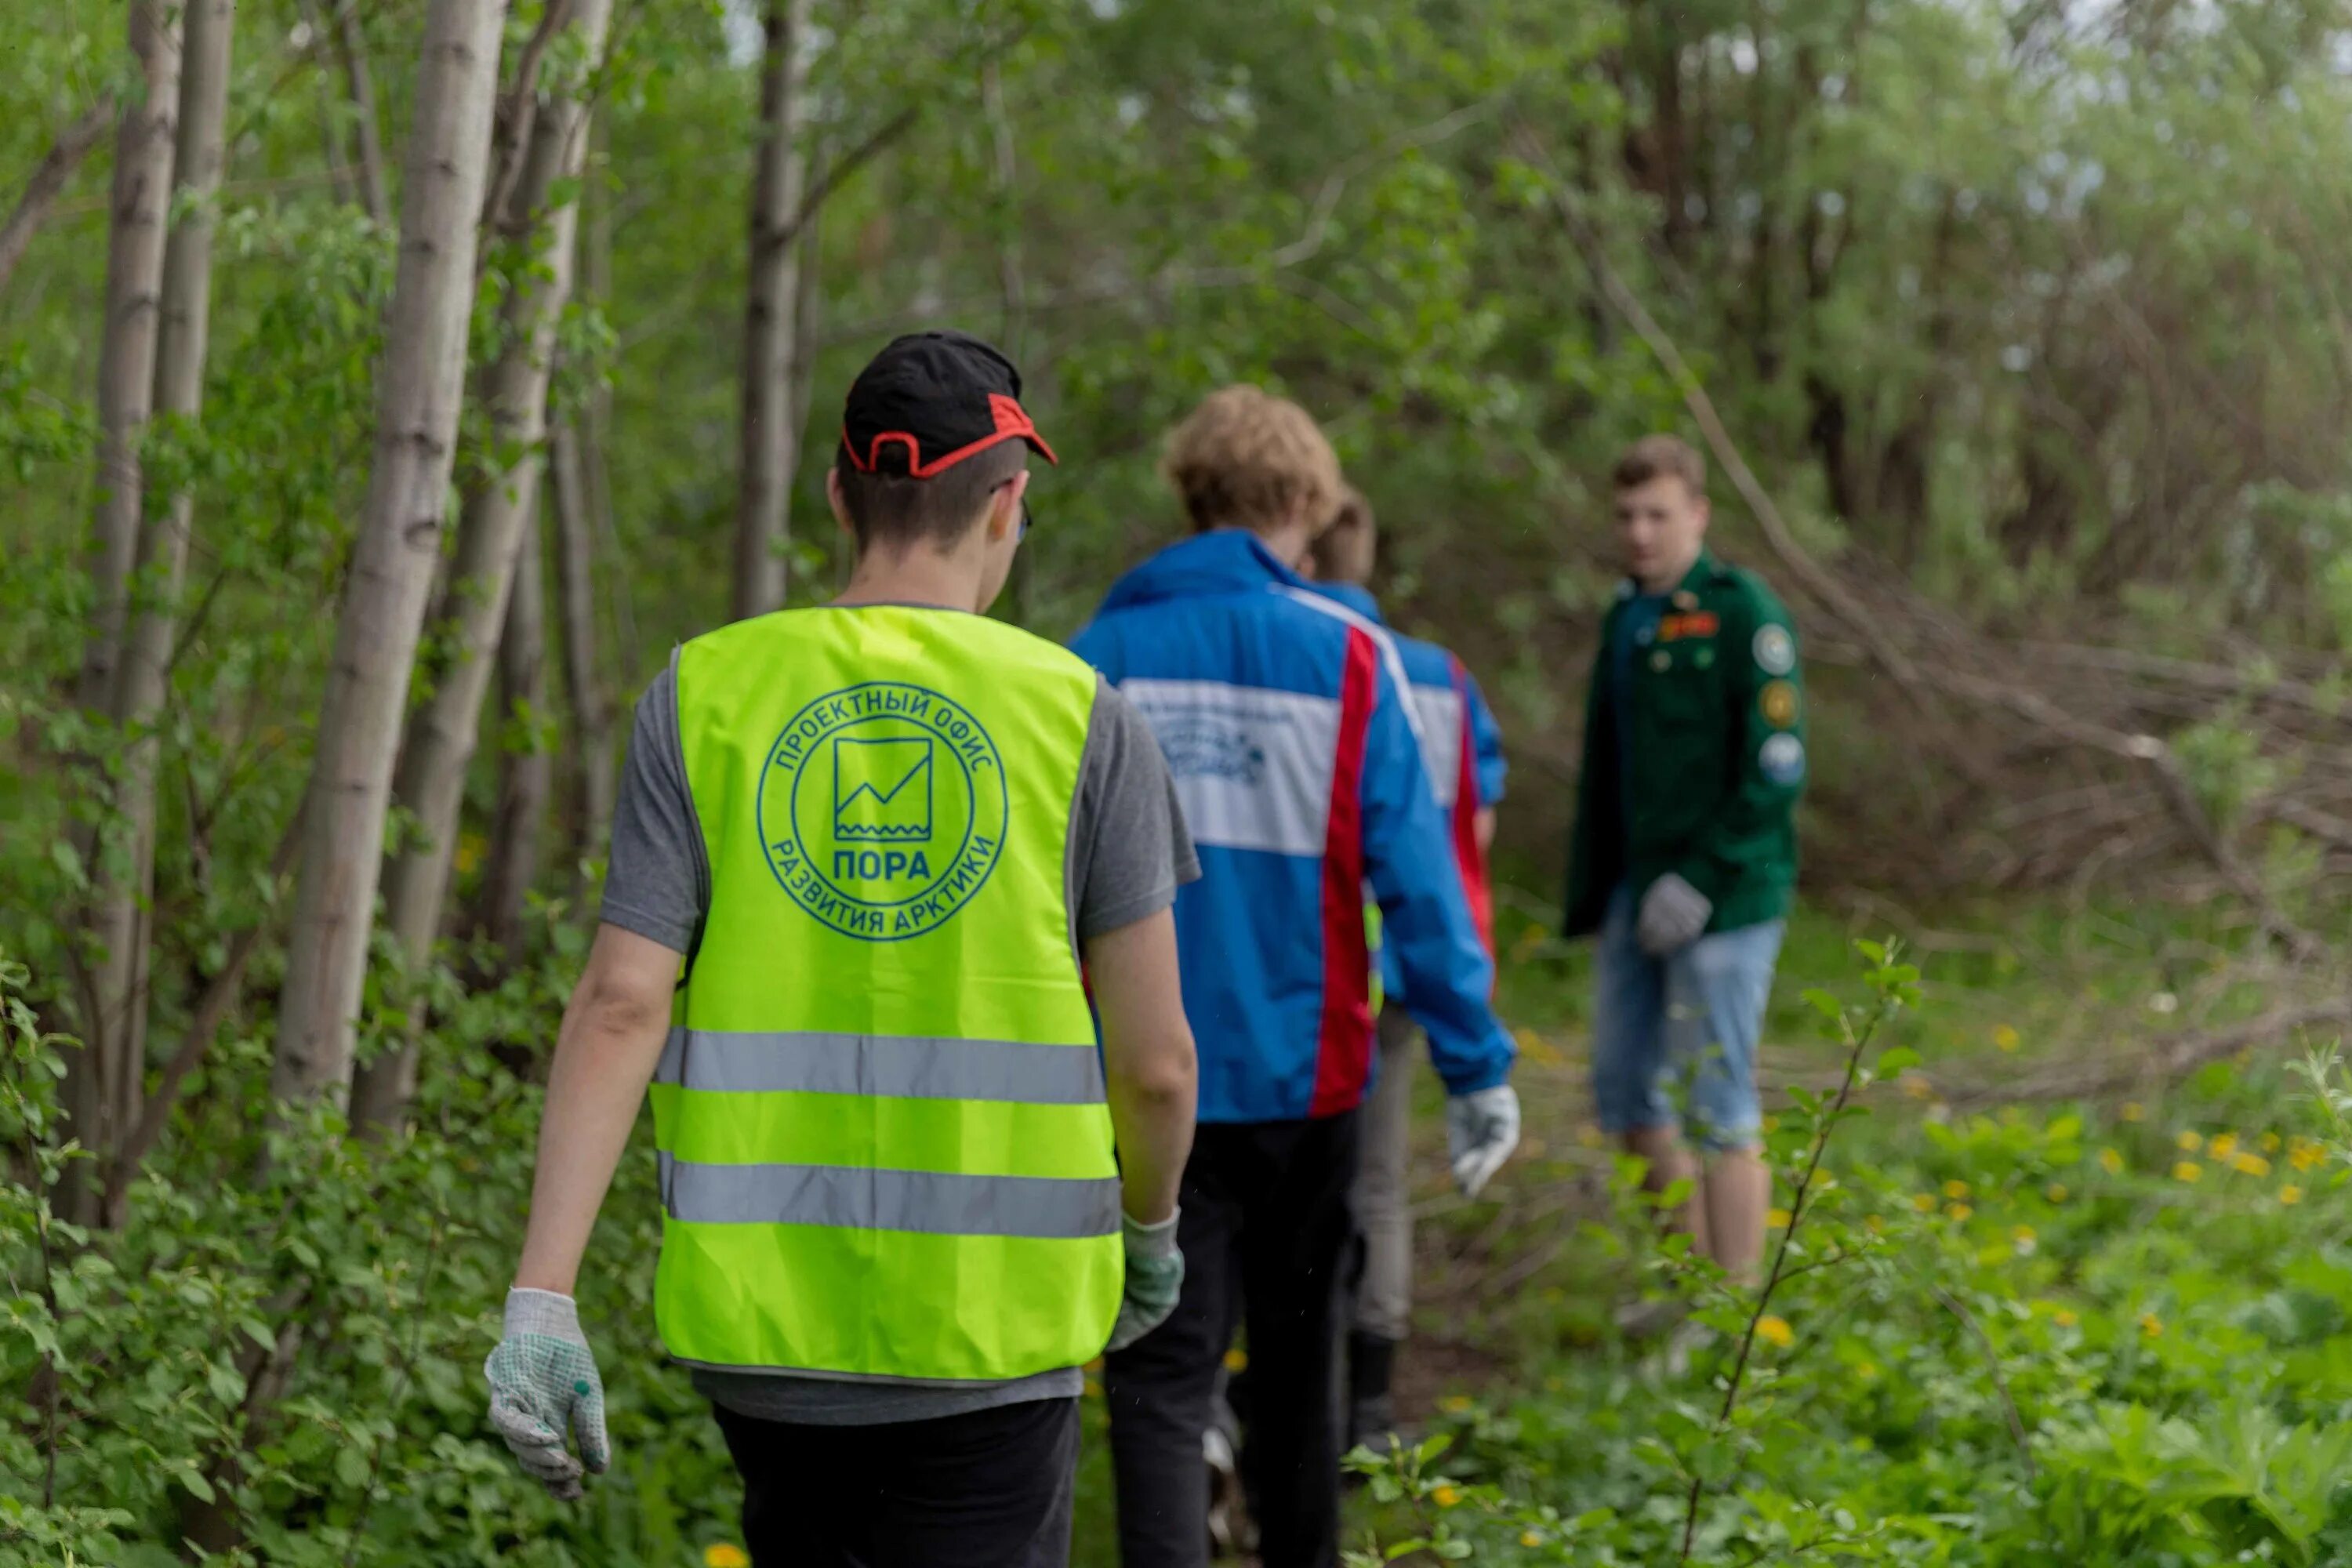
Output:
<instances>
[{"instance_id":1,"label":"red vertical stripe on the nearer blue jacket, beside its sleeve","mask_svg":"<svg viewBox=\"0 0 2352 1568\"><path fill-rule=\"evenodd\" d=\"M1364 1100L1371 1077L1371 947L1364 938L1364 736L1381 698L1381 651L1348 628L1338 682L1338 757L1324 827L1324 1016L1315 1044L1310 1117L1336 1117Z\"/></svg>"}]
</instances>

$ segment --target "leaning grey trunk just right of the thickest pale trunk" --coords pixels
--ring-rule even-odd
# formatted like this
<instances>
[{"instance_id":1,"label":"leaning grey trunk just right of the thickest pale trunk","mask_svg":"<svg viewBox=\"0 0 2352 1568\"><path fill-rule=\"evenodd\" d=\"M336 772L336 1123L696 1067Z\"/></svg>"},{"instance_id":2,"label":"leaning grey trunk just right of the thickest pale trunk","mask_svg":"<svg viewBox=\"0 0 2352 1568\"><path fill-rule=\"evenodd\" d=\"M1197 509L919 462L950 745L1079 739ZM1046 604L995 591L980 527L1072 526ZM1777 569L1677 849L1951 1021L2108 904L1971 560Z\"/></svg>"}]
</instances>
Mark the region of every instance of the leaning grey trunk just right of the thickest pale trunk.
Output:
<instances>
[{"instance_id":1,"label":"leaning grey trunk just right of the thickest pale trunk","mask_svg":"<svg viewBox=\"0 0 2352 1568\"><path fill-rule=\"evenodd\" d=\"M600 59L612 0L576 0L572 12L588 59ZM588 155L588 106L576 94L579 87L564 89L532 118L524 167L513 186L508 212L536 266L517 270L503 315L503 348L482 378L492 454L466 487L456 557L437 614L435 642L449 649L449 665L409 717L393 785L395 799L416 816L416 837L386 865L383 912L412 973L433 957L433 938L440 933L466 769L482 731L482 698L515 585L515 555L539 496L548 374L555 364L555 327L572 296L572 237L579 221L576 200L567 197L548 209L548 197L557 186L576 183ZM350 1095L353 1126L395 1126L407 1114L414 1086L412 1037L360 1070Z\"/></svg>"}]
</instances>

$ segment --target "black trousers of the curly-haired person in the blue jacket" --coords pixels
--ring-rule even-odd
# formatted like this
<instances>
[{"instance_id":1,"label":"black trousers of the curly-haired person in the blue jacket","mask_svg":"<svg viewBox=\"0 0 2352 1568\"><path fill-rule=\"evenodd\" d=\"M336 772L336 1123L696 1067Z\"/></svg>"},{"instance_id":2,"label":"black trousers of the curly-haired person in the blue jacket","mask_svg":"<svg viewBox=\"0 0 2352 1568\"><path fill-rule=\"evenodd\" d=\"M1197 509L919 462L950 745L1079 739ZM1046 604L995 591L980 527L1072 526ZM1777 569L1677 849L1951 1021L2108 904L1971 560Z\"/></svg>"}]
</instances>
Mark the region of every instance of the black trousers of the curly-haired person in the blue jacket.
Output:
<instances>
[{"instance_id":1,"label":"black trousers of the curly-haired person in the blue jacket","mask_svg":"<svg viewBox=\"0 0 2352 1568\"><path fill-rule=\"evenodd\" d=\"M1265 1568L1338 1563L1334 1342L1357 1114L1202 1124L1183 1171L1183 1295L1103 1363L1122 1568L1204 1568L1202 1432L1235 1324L1249 1321L1242 1469Z\"/></svg>"}]
</instances>

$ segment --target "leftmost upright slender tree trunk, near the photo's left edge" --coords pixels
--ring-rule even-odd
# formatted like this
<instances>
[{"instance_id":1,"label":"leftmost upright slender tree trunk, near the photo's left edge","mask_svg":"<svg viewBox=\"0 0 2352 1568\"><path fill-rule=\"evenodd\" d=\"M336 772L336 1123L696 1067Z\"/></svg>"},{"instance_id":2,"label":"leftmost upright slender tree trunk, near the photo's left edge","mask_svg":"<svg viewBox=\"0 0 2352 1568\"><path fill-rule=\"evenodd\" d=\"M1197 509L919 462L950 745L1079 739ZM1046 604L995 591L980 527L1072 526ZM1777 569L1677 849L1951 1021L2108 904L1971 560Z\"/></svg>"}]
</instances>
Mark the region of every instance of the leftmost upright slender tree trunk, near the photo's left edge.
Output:
<instances>
[{"instance_id":1,"label":"leftmost upright slender tree trunk, near the photo's left edge","mask_svg":"<svg viewBox=\"0 0 2352 1568\"><path fill-rule=\"evenodd\" d=\"M141 470L139 442L155 397L155 341L162 336L162 254L172 200L172 158L179 127L179 12L165 0L132 0L132 54L139 56L146 96L122 110L115 136L113 226L106 242L106 336L99 348L99 503L92 520L89 581L92 614L82 642L82 675L75 698L85 715L111 717L122 663L122 623L129 604L132 564L139 555ZM101 790L103 795L103 790ZM99 830L80 835L85 858L96 867L111 839ZM66 1114L89 1150L111 1150L125 1128L115 1126L125 1088L136 1095L136 1063L129 1058L129 1001L139 971L139 910L132 900L103 900L89 924L96 966L89 983L85 1044L66 1058ZM78 1220L94 1218L96 1182L75 1173L64 1208Z\"/></svg>"}]
</instances>

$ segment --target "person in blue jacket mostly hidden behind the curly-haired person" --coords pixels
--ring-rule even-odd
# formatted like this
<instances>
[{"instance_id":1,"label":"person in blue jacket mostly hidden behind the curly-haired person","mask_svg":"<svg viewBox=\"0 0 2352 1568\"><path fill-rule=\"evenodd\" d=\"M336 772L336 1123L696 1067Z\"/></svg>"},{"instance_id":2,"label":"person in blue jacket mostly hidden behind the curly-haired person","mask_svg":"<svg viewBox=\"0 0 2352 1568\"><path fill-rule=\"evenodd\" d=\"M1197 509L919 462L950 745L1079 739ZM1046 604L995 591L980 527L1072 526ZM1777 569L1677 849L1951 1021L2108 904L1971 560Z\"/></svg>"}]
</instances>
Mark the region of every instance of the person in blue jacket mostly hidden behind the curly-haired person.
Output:
<instances>
[{"instance_id":1,"label":"person in blue jacket mostly hidden behind the curly-haired person","mask_svg":"<svg viewBox=\"0 0 2352 1568\"><path fill-rule=\"evenodd\" d=\"M1338 520L1315 541L1308 571L1315 592L1355 614L1388 625L1367 583L1378 555L1371 503L1348 491ZM1421 757L1444 813L1446 844L1470 898L1486 952L1494 952L1494 889L1486 851L1494 844L1496 804L1508 766L1503 731L1470 668L1451 651L1421 637L1390 632L1414 715L1421 719ZM1362 1168L1355 1178L1355 1225L1362 1272L1348 1331L1348 1436L1345 1443L1378 1443L1397 1425L1390 1380L1397 1345L1414 1312L1414 1211L1406 1204L1404 1161L1414 1117L1416 997L1404 980L1392 943L1381 945L1381 1070L1364 1100Z\"/></svg>"}]
</instances>

